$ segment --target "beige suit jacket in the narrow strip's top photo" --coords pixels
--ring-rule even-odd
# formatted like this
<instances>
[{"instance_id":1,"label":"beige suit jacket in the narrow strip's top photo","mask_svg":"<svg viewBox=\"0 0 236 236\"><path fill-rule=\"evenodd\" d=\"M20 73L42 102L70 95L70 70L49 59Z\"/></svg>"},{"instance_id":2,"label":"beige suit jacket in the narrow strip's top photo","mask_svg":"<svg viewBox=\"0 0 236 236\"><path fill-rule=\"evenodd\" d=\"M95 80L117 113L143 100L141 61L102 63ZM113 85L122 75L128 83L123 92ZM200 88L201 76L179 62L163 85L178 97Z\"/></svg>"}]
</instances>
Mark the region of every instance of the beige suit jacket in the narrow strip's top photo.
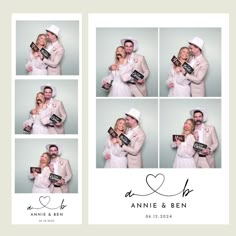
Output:
<instances>
[{"instance_id":1,"label":"beige suit jacket in the narrow strip's top photo","mask_svg":"<svg viewBox=\"0 0 236 236\"><path fill-rule=\"evenodd\" d=\"M63 46L57 41L53 44L49 59L44 58L43 62L48 65L48 75L61 75L61 59L64 55Z\"/></svg>"}]
</instances>

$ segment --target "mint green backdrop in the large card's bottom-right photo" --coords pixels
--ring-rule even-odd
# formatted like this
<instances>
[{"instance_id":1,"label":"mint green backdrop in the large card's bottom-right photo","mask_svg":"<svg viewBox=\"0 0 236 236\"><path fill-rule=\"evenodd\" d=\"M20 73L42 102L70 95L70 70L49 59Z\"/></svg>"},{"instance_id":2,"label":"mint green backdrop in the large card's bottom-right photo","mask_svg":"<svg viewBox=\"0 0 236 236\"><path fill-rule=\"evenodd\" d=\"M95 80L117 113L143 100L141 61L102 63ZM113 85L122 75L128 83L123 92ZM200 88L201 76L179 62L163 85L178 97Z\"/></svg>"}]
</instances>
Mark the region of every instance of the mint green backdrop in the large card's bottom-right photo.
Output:
<instances>
[{"instance_id":1,"label":"mint green backdrop in the large card's bottom-right photo","mask_svg":"<svg viewBox=\"0 0 236 236\"><path fill-rule=\"evenodd\" d=\"M160 167L172 168L176 149L171 148L172 134L181 134L190 110L201 107L207 112L206 124L215 126L219 146L214 152L216 167L221 167L221 101L219 99L161 99L160 101ZM227 158L222 155L222 158Z\"/></svg>"}]
</instances>

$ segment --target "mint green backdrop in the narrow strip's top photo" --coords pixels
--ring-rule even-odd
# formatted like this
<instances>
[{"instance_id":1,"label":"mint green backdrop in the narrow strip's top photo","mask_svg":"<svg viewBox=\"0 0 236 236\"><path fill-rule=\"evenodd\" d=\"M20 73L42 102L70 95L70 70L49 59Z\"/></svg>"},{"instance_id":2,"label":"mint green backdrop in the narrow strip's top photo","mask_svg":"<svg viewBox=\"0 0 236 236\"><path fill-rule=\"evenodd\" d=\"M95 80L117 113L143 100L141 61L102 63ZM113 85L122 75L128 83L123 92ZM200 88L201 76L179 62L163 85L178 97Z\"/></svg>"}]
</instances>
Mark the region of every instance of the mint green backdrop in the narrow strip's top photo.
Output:
<instances>
[{"instance_id":1,"label":"mint green backdrop in the narrow strip's top photo","mask_svg":"<svg viewBox=\"0 0 236 236\"><path fill-rule=\"evenodd\" d=\"M65 49L62 75L79 75L79 21L16 21L16 75L28 74L25 64L31 53L29 45L50 25L60 28L58 39Z\"/></svg>"}]
</instances>

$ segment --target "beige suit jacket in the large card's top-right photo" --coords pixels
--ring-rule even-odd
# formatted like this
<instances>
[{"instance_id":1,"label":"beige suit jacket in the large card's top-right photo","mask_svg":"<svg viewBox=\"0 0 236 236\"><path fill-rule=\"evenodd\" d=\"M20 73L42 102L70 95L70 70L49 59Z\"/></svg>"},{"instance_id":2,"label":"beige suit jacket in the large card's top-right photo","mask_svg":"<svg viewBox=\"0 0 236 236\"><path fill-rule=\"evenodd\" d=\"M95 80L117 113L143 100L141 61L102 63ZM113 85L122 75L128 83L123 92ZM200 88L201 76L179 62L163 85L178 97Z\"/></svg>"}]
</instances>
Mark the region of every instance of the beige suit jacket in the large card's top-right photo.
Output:
<instances>
[{"instance_id":1,"label":"beige suit jacket in the large card's top-right photo","mask_svg":"<svg viewBox=\"0 0 236 236\"><path fill-rule=\"evenodd\" d=\"M186 78L191 81L191 95L192 97L205 97L205 77L208 71L208 62L206 58L202 55L200 58L196 59L194 63L193 74L187 74Z\"/></svg>"}]
</instances>

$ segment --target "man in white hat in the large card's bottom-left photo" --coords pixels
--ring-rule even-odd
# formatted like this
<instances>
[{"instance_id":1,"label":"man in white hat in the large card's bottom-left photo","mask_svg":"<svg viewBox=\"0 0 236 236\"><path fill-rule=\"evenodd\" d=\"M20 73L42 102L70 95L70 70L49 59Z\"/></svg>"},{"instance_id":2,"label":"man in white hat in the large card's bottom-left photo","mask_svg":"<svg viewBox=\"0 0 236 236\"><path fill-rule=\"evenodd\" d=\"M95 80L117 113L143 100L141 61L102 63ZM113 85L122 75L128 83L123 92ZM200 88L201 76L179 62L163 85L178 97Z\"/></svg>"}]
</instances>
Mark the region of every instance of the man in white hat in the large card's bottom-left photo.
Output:
<instances>
[{"instance_id":1,"label":"man in white hat in the large card's bottom-left photo","mask_svg":"<svg viewBox=\"0 0 236 236\"><path fill-rule=\"evenodd\" d=\"M145 141L145 133L139 126L140 120L140 111L131 108L129 112L125 113L126 115L126 124L130 127L127 133L127 137L131 140L128 146L123 145L121 140L119 144L124 151L126 151L128 158L128 168L142 168L142 147Z\"/></svg>"}]
</instances>

